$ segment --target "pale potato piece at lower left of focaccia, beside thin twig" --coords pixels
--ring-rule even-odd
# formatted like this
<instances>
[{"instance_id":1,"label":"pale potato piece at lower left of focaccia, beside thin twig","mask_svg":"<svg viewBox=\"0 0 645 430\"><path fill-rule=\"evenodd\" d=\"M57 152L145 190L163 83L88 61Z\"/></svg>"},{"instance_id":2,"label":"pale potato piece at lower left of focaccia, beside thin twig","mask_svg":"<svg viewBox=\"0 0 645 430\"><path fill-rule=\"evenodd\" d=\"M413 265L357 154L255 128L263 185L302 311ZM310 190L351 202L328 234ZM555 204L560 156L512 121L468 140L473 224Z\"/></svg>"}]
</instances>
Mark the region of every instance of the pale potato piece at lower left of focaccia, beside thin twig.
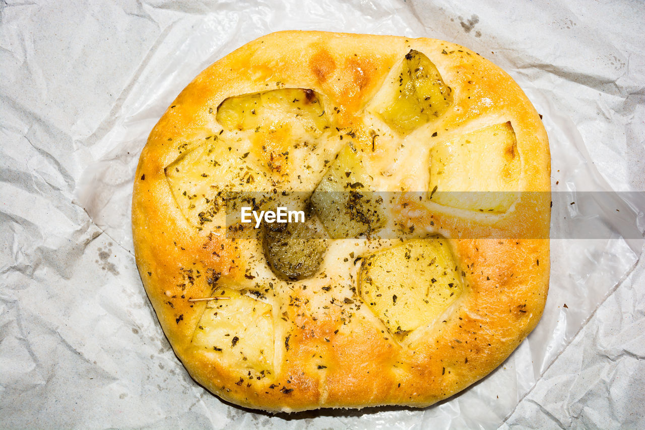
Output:
<instances>
[{"instance_id":1,"label":"pale potato piece at lower left of focaccia, beside thin twig","mask_svg":"<svg viewBox=\"0 0 645 430\"><path fill-rule=\"evenodd\" d=\"M217 296L229 300L208 302L195 328L194 347L213 354L233 369L273 373L272 307L238 291Z\"/></svg>"}]
</instances>

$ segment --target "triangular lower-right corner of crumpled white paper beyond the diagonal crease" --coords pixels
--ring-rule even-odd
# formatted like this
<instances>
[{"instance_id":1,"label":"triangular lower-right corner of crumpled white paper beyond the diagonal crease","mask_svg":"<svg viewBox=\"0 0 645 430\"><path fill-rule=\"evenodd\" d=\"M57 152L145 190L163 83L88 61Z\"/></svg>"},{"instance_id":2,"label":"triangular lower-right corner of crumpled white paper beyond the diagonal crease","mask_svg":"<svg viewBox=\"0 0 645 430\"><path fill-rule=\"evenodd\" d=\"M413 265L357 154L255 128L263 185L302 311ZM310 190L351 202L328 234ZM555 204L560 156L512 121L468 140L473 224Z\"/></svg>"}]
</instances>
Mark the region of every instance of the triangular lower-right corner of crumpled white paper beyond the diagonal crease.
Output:
<instances>
[{"instance_id":1,"label":"triangular lower-right corner of crumpled white paper beyond the diagonal crease","mask_svg":"<svg viewBox=\"0 0 645 430\"><path fill-rule=\"evenodd\" d=\"M640 428L645 261L602 303L502 428ZM565 376L568 375L568 376Z\"/></svg>"}]
</instances>

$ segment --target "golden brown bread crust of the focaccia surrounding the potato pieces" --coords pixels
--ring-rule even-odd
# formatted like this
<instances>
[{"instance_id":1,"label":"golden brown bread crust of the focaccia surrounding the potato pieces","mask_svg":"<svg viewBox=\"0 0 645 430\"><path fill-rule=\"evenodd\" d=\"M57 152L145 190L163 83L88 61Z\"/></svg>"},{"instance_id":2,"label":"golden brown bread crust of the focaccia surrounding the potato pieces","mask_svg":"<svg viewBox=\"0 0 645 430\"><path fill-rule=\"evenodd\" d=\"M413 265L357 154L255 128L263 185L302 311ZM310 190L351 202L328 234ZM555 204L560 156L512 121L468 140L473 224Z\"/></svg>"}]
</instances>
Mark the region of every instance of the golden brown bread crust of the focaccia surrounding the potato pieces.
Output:
<instances>
[{"instance_id":1,"label":"golden brown bread crust of the focaccia surrounding the potato pieces","mask_svg":"<svg viewBox=\"0 0 645 430\"><path fill-rule=\"evenodd\" d=\"M453 90L453 107L441 126L469 131L511 121L522 160L519 190L543 193L535 194L537 201L516 202L497 218L436 205L415 208L417 225L430 231L432 224L433 230L453 238L452 252L467 288L441 321L405 340L388 335L366 305L357 306L361 298L350 290L354 272L352 279L328 279L329 285L335 282L330 291L315 285L303 289L303 283L288 292L267 287L272 306L267 321L275 347L267 354L273 362L270 374L249 370L247 375L230 360L219 359L219 351L196 348L195 331L209 308L207 302L188 299L210 296L213 285L218 291L239 289L235 285L247 282L248 264L259 263L249 259L243 240L236 246L224 229L200 230L187 220L166 167L186 147L219 134L222 127L213 110L224 99L275 88L314 90L323 97L334 127L352 128L355 144L370 147L374 141L361 120L364 110L411 49L428 56ZM386 163L391 154L387 148L382 151ZM285 164L280 174L298 169L303 166ZM179 94L152 130L135 178L135 255L164 333L195 380L235 404L268 411L430 405L495 369L535 327L544 308L550 216L546 132L517 84L461 46L324 32L261 37L206 68ZM341 305L314 309L321 296ZM343 305L344 298L353 304Z\"/></svg>"}]
</instances>

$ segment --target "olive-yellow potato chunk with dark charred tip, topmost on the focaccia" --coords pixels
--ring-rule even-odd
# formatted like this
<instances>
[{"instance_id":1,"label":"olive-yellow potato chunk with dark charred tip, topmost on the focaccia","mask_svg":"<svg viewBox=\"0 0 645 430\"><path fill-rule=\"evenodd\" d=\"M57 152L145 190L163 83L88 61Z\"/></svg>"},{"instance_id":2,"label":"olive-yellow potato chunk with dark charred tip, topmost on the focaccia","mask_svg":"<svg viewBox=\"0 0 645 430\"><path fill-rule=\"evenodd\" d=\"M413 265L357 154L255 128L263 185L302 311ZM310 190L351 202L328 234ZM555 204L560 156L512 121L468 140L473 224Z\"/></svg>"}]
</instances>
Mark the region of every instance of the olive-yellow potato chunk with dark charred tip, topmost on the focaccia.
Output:
<instances>
[{"instance_id":1,"label":"olive-yellow potato chunk with dark charred tip, topmost on the focaccia","mask_svg":"<svg viewBox=\"0 0 645 430\"><path fill-rule=\"evenodd\" d=\"M376 112L395 130L411 132L444 114L452 103L451 93L432 61L410 50Z\"/></svg>"}]
</instances>

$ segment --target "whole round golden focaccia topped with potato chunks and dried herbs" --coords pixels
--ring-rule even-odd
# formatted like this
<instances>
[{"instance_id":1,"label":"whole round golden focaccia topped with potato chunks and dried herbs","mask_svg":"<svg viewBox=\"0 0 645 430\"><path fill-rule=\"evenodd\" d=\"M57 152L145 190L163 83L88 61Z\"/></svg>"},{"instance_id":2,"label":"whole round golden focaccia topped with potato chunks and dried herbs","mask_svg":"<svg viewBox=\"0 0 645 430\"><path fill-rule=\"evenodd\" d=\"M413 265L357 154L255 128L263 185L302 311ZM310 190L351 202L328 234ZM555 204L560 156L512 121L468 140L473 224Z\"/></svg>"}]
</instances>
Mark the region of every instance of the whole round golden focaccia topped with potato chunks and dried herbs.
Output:
<instances>
[{"instance_id":1,"label":"whole round golden focaccia topped with potato chunks and dried herbs","mask_svg":"<svg viewBox=\"0 0 645 430\"><path fill-rule=\"evenodd\" d=\"M170 105L132 225L163 331L212 393L266 411L424 407L537 324L549 203L541 118L490 61L290 31Z\"/></svg>"}]
</instances>

